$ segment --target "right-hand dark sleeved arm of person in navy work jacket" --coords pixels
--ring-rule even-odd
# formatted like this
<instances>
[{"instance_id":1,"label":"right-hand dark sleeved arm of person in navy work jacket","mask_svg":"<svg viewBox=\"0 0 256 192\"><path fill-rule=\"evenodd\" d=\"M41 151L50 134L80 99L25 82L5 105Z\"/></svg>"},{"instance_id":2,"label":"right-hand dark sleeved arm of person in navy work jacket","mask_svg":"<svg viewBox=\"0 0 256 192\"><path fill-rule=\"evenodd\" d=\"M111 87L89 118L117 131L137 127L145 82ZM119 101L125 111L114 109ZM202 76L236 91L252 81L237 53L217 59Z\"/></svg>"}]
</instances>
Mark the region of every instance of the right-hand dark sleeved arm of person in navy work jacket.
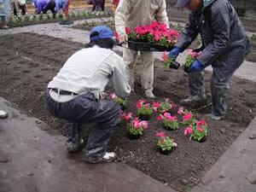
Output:
<instances>
[{"instance_id":1,"label":"right-hand dark sleeved arm of person in navy work jacket","mask_svg":"<svg viewBox=\"0 0 256 192\"><path fill-rule=\"evenodd\" d=\"M230 13L227 7L212 10L213 39L197 57L207 67L221 55L230 44Z\"/></svg>"}]
</instances>

